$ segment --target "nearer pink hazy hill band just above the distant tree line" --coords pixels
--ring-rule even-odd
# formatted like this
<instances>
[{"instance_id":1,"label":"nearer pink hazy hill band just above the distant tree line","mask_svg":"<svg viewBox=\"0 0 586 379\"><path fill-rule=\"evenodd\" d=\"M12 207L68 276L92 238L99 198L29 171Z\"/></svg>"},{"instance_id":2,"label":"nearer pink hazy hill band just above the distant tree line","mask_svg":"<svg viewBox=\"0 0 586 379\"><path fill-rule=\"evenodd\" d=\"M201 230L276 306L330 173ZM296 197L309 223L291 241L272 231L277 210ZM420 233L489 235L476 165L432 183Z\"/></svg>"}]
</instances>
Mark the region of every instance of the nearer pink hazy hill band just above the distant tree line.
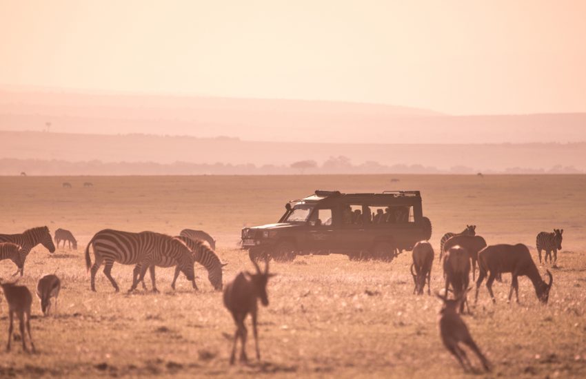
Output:
<instances>
[{"instance_id":1,"label":"nearer pink hazy hill band just above the distant tree line","mask_svg":"<svg viewBox=\"0 0 586 379\"><path fill-rule=\"evenodd\" d=\"M381 172L384 166L413 166L410 172L531 172L554 166L586 170L586 143L364 144L241 141L145 134L100 135L0 131L0 158L103 163L176 162L197 165L276 165L312 160L327 172ZM344 158L339 158L340 156ZM361 169L353 166L362 165ZM77 166L77 172L83 172ZM425 167L427 169L423 170ZM356 169L356 170L355 170ZM384 170L383 170L384 169ZM14 170L18 171L14 167ZM164 168L159 169L164 172ZM203 169L202 169L203 170ZM515 171L516 170L516 171ZM9 170L10 171L10 170ZM404 170L403 170L404 171ZM213 173L207 168L203 172ZM565 170L568 172L568 170ZM7 172L5 172L6 174ZM267 173L276 173L267 171ZM277 170L278 173L278 170Z\"/></svg>"}]
</instances>

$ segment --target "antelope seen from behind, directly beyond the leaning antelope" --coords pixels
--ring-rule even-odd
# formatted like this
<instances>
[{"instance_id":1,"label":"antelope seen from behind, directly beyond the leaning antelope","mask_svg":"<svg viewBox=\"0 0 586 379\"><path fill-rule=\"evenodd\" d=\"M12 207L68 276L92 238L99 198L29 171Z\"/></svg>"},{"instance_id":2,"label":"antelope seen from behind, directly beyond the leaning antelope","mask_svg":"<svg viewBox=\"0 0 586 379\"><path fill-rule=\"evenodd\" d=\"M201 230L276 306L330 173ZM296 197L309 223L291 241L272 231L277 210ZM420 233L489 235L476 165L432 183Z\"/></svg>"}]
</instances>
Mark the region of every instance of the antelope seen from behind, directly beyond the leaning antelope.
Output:
<instances>
[{"instance_id":1,"label":"antelope seen from behind, directly beyond the leaning antelope","mask_svg":"<svg viewBox=\"0 0 586 379\"><path fill-rule=\"evenodd\" d=\"M460 312L463 312L464 303L467 305L466 289L470 283L470 258L466 249L456 245L445 252L443 272L445 275L445 296L447 296L449 285L452 285L454 297L463 299L460 302Z\"/></svg>"}]
</instances>

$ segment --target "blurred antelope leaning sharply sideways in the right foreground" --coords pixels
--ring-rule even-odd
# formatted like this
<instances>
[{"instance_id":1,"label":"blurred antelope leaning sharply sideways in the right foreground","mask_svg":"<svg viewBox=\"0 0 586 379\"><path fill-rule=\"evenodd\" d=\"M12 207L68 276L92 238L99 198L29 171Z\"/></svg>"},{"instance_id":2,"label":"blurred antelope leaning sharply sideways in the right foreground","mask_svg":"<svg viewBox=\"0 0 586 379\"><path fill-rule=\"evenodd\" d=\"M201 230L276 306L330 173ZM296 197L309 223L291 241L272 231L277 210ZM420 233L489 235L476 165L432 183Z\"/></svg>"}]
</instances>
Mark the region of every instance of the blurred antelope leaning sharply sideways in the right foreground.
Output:
<instances>
[{"instance_id":1,"label":"blurred antelope leaning sharply sideways in the right foreground","mask_svg":"<svg viewBox=\"0 0 586 379\"><path fill-rule=\"evenodd\" d=\"M474 351L474 354L476 354L481 360L485 371L490 371L489 361L482 354L481 350L478 349L476 342L474 342L472 336L470 336L468 327L457 311L458 308L462 307L468 290L469 289L463 291L463 293L460 294L460 296L457 296L454 300L448 300L447 294L441 296L436 292L436 296L443 301L443 307L439 312L441 340L446 349L456 357L458 362L460 362L464 371L472 371L472 365L466 356L466 352L458 346L458 343L460 342L463 342L464 345L467 345L472 351Z\"/></svg>"}]
</instances>

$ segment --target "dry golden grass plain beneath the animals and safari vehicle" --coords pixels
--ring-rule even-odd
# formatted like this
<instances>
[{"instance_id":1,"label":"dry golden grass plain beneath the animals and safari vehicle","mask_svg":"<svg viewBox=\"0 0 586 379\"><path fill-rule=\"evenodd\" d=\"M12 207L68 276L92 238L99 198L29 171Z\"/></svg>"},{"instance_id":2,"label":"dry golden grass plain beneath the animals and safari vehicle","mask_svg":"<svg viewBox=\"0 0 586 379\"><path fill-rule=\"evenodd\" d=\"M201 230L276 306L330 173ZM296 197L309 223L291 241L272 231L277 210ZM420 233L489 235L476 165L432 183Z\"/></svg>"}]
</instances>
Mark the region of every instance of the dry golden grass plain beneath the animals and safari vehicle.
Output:
<instances>
[{"instance_id":1,"label":"dry golden grass plain beneath the animals and safari vehicle","mask_svg":"<svg viewBox=\"0 0 586 379\"><path fill-rule=\"evenodd\" d=\"M72 188L63 188L63 182ZM93 187L83 187L84 182ZM510 274L503 275L504 283L494 284L496 305L481 287L472 314L463 316L493 365L492 373L477 375L584 378L585 188L586 176L578 175L3 177L0 233L43 225L53 233L61 227L73 232L79 248L60 247L50 254L39 245L28 256L19 283L34 291L42 274L56 272L62 280L58 310L43 317L34 298L31 325L37 354L23 353L15 342L10 353L0 353L0 376L465 376L439 337L441 301L428 296L427 289L424 296L412 294L410 252L391 263L354 262L340 255L272 262L270 270L277 276L268 284L270 305L259 311L261 361L254 358L249 327L248 365L228 364L234 323L221 293L197 264L199 291L183 276L172 291L173 269L159 268L160 294L142 289L125 294L132 267L119 264L112 270L119 294L101 270L97 293L90 291L83 251L101 229L172 235L184 228L203 229L216 238L216 253L228 263L225 284L237 272L253 269L237 245L241 228L277 221L286 201L315 189L418 189L423 213L433 224L432 293L443 287L439 240L466 224L477 225L476 233L489 245L529 245L540 274L545 277L549 268L554 276L547 305L538 302L525 277L519 281L519 305L506 301ZM536 234L554 227L564 229L557 267L539 265ZM1 278L14 271L10 260L0 262ZM0 306L4 344L6 301ZM480 367L475 358L472 364Z\"/></svg>"}]
</instances>

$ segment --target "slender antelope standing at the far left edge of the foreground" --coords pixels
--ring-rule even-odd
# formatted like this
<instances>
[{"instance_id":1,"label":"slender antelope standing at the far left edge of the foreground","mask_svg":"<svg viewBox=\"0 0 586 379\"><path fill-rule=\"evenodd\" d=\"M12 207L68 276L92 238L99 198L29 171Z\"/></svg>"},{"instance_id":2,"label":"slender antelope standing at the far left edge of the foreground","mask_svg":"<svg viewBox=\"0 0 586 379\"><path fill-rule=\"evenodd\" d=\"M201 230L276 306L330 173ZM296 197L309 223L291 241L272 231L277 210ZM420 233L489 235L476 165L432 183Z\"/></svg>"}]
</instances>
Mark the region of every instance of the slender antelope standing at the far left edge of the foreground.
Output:
<instances>
[{"instance_id":1,"label":"slender antelope standing at the far left edge of the foreground","mask_svg":"<svg viewBox=\"0 0 586 379\"><path fill-rule=\"evenodd\" d=\"M30 340L30 347L34 353L34 343L30 334L30 305L32 304L32 296L27 287L23 285L16 285L15 283L2 283L0 280L0 287L6 296L8 303L8 318L10 326L8 327L8 345L6 351L10 351L10 342L12 341L12 329L14 315L17 315L20 320L20 331L22 339L22 348L28 352L26 348L26 334L25 334L25 316L26 316L26 330L28 331L28 339Z\"/></svg>"}]
</instances>

